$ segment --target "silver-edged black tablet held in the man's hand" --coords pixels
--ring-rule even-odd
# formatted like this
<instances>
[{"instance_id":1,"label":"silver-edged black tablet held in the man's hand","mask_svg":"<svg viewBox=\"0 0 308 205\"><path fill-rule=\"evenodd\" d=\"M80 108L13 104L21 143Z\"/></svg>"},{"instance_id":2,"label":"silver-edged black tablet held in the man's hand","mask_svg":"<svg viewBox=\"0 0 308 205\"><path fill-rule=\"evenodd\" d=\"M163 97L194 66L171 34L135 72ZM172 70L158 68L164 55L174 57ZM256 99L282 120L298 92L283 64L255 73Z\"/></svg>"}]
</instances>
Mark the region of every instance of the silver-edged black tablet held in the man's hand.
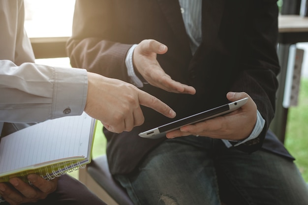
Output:
<instances>
[{"instance_id":1,"label":"silver-edged black tablet held in the man's hand","mask_svg":"<svg viewBox=\"0 0 308 205\"><path fill-rule=\"evenodd\" d=\"M237 101L225 104L225 105L221 105L219 107L216 107L216 108L213 108L207 111L203 111L201 113L197 113L189 117L184 117L182 119L161 125L154 129L139 133L139 136L144 137L144 138L150 138L150 139L158 139L160 137L164 137L167 132L180 129L181 127L185 125L194 124L200 121L204 121L206 119L221 116L221 115L230 113L232 111L235 111L239 109L240 107L242 107L247 102L247 100L248 98L246 97L241 100L237 100Z\"/></svg>"}]
</instances>

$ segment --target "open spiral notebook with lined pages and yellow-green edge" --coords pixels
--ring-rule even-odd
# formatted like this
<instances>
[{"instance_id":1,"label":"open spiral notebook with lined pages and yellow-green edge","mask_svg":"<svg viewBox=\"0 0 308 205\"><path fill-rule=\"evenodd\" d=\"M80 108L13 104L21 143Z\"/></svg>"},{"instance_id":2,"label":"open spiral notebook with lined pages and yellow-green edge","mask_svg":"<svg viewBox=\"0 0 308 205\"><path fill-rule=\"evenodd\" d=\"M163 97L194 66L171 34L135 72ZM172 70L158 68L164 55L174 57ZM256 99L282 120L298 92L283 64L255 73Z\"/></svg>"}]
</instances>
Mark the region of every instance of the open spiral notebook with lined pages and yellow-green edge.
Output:
<instances>
[{"instance_id":1,"label":"open spiral notebook with lined pages and yellow-green edge","mask_svg":"<svg viewBox=\"0 0 308 205\"><path fill-rule=\"evenodd\" d=\"M47 120L1 138L0 182L38 174L53 179L91 162L96 121L81 116Z\"/></svg>"}]
</instances>

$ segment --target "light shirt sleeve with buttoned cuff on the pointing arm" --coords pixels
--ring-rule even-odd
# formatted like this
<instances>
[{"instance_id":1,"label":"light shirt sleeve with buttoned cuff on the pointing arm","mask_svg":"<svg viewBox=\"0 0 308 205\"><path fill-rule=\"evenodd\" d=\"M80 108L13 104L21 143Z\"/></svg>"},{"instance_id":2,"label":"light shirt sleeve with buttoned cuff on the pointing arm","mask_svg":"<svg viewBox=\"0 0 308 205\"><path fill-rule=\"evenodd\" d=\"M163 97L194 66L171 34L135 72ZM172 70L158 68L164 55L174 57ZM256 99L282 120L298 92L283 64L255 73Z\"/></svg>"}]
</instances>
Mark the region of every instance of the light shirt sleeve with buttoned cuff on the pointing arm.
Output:
<instances>
[{"instance_id":1,"label":"light shirt sleeve with buttoned cuff on the pointing arm","mask_svg":"<svg viewBox=\"0 0 308 205\"><path fill-rule=\"evenodd\" d=\"M0 60L0 121L40 122L80 115L88 77L84 69Z\"/></svg>"}]
</instances>

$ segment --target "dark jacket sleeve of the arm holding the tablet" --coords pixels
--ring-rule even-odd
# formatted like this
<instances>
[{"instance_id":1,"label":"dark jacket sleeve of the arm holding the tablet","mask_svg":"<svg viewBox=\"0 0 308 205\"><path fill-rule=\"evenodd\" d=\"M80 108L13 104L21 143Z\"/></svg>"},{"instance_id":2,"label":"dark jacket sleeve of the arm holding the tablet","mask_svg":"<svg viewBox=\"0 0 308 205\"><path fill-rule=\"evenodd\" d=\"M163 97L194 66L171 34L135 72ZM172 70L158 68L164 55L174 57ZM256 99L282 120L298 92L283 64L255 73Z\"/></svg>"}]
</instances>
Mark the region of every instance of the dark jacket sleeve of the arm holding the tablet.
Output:
<instances>
[{"instance_id":1,"label":"dark jacket sleeve of the arm holding the tablet","mask_svg":"<svg viewBox=\"0 0 308 205\"><path fill-rule=\"evenodd\" d=\"M238 148L243 151L257 150L262 146L269 125L275 114L277 74L280 70L277 59L277 3L261 0L252 3L249 21L243 35L242 63L240 72L230 91L246 91L254 100L265 119L258 138Z\"/></svg>"}]
</instances>

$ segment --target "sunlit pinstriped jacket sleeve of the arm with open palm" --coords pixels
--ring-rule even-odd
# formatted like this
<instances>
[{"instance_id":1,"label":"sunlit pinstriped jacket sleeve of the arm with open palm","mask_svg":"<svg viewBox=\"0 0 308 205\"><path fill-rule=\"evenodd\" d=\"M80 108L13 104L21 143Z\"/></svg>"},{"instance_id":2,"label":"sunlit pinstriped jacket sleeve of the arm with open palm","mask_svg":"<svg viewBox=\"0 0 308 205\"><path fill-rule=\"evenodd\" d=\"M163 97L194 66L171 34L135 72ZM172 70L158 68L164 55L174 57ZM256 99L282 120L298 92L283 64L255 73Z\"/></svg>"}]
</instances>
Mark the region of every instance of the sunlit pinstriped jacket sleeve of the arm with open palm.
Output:
<instances>
[{"instance_id":1,"label":"sunlit pinstriped jacket sleeve of the arm with open palm","mask_svg":"<svg viewBox=\"0 0 308 205\"><path fill-rule=\"evenodd\" d=\"M120 43L122 25L115 23L109 4L108 1L83 0L76 3L67 53L73 67L129 82L125 56L132 44Z\"/></svg>"}]
</instances>

